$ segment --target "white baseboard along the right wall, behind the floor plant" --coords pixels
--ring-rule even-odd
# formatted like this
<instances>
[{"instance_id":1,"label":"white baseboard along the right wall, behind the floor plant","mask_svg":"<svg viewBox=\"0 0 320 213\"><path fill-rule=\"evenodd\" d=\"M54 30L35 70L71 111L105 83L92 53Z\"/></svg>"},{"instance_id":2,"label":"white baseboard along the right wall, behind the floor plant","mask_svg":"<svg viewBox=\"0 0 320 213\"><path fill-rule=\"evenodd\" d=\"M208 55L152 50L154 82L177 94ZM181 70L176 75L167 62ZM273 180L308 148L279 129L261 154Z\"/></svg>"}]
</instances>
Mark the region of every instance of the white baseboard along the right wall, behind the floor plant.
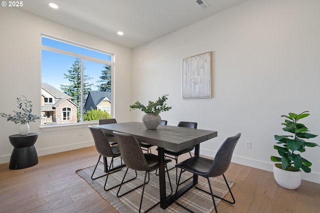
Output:
<instances>
[{"instance_id":1,"label":"white baseboard along the right wall, behind the floor plant","mask_svg":"<svg viewBox=\"0 0 320 213\"><path fill-rule=\"evenodd\" d=\"M205 155L205 156L215 156L216 151L200 148L200 154ZM231 161L234 163L241 164L241 165L246 165L246 166L250 166L253 168L259 168L262 170L273 172L272 166L274 163L271 161L265 162L265 161L241 157L241 156L237 156L237 155L233 155ZM302 172L302 179L307 180L307 181L311 181L311 182L315 182L315 183L320 183L320 174L312 172L312 171L310 173Z\"/></svg>"}]
</instances>

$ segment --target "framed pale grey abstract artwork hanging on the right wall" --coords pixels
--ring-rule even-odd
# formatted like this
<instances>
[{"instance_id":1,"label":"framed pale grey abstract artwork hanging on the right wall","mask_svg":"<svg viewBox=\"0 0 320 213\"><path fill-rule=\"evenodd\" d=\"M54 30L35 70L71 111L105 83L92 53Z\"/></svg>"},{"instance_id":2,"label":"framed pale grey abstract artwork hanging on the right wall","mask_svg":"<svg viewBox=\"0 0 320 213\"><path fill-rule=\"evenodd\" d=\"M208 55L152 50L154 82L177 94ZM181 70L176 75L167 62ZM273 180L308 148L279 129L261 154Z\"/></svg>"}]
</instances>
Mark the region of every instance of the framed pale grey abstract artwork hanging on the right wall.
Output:
<instances>
[{"instance_id":1,"label":"framed pale grey abstract artwork hanging on the right wall","mask_svg":"<svg viewBox=\"0 0 320 213\"><path fill-rule=\"evenodd\" d=\"M182 58L182 98L212 97L212 51Z\"/></svg>"}]
</instances>

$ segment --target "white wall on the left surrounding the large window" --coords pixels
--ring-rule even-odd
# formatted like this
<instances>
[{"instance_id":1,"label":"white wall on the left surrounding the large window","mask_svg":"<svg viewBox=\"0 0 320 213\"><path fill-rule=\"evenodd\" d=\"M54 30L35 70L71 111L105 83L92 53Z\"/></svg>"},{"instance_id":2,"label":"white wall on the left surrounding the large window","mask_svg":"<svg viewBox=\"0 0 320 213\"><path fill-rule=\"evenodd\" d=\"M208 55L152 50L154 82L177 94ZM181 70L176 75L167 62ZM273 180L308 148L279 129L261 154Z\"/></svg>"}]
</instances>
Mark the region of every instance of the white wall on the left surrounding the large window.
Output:
<instances>
[{"instance_id":1,"label":"white wall on the left surrounding the large window","mask_svg":"<svg viewBox=\"0 0 320 213\"><path fill-rule=\"evenodd\" d=\"M46 33L114 53L114 117L130 120L132 49L86 34L17 8L0 8L0 112L16 108L16 97L25 95L40 114L41 98L41 33ZM0 118L0 163L8 162L12 151L8 135L18 133L18 124ZM93 145L87 125L71 129L43 131L40 120L30 123L30 132L38 132L35 143L38 155L50 154ZM51 129L52 130L52 129ZM81 135L80 135L81 134Z\"/></svg>"}]
</instances>

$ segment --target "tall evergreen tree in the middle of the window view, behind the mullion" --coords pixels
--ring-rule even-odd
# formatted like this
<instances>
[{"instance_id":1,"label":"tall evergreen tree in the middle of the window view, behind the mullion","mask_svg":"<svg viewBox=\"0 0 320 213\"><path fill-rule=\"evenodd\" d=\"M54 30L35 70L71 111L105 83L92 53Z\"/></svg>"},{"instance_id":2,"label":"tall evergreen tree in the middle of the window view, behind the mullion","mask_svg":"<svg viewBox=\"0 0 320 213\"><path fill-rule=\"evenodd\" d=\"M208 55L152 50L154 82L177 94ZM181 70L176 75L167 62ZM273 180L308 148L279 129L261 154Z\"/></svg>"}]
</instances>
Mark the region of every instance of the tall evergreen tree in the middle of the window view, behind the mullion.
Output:
<instances>
[{"instance_id":1,"label":"tall evergreen tree in the middle of the window view, behind the mullion","mask_svg":"<svg viewBox=\"0 0 320 213\"><path fill-rule=\"evenodd\" d=\"M83 68L84 69L84 68ZM72 101L80 108L81 103L81 60L76 58L72 64L71 69L67 70L68 74L64 73L64 78L69 80L69 85L60 84L61 90L70 95ZM92 84L88 84L86 81L91 79L87 75L83 75L83 97L86 97Z\"/></svg>"}]
</instances>

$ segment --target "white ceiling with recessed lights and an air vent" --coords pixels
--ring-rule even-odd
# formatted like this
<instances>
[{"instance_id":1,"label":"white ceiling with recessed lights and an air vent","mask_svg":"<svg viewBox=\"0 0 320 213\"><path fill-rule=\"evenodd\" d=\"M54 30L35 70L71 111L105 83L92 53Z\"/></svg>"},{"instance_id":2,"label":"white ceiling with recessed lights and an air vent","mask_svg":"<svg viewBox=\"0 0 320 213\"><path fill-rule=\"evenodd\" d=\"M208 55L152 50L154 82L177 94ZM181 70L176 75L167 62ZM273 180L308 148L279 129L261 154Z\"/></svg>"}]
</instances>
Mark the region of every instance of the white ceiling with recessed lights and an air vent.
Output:
<instances>
[{"instance_id":1,"label":"white ceiling with recessed lights and an air vent","mask_svg":"<svg viewBox=\"0 0 320 213\"><path fill-rule=\"evenodd\" d=\"M205 0L209 6L202 9L195 0L27 0L20 8L134 48L244 1Z\"/></svg>"}]
</instances>

